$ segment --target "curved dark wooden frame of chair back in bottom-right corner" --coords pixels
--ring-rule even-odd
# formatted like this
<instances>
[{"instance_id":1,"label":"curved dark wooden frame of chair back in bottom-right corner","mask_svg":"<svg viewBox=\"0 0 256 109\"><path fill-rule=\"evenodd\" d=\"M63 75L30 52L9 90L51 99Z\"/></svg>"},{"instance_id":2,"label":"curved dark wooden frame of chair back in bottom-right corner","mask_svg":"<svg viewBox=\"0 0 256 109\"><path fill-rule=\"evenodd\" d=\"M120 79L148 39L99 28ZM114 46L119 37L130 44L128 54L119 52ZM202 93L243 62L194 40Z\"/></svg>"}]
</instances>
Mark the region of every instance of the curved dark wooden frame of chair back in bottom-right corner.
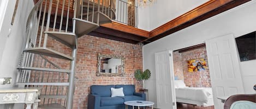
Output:
<instances>
[{"instance_id":1,"label":"curved dark wooden frame of chair back in bottom-right corner","mask_svg":"<svg viewBox=\"0 0 256 109\"><path fill-rule=\"evenodd\" d=\"M229 97L225 101L224 109L230 109L231 105L235 101L241 101L241 100L256 102L256 94L237 94L237 95L232 95L231 97Z\"/></svg>"}]
</instances>

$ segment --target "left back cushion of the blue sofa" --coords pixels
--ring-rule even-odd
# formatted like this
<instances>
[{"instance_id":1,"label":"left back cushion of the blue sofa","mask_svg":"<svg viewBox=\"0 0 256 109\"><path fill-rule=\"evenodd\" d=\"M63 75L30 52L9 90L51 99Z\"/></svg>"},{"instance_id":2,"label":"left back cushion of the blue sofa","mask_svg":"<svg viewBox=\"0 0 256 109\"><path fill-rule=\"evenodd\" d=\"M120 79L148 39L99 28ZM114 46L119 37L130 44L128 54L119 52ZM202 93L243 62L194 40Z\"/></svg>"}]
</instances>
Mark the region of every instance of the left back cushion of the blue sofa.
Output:
<instances>
[{"instance_id":1,"label":"left back cushion of the blue sofa","mask_svg":"<svg viewBox=\"0 0 256 109\"><path fill-rule=\"evenodd\" d=\"M111 87L115 88L114 85L92 85L91 94L96 94L96 95L99 95L100 97L110 97Z\"/></svg>"}]
</instances>

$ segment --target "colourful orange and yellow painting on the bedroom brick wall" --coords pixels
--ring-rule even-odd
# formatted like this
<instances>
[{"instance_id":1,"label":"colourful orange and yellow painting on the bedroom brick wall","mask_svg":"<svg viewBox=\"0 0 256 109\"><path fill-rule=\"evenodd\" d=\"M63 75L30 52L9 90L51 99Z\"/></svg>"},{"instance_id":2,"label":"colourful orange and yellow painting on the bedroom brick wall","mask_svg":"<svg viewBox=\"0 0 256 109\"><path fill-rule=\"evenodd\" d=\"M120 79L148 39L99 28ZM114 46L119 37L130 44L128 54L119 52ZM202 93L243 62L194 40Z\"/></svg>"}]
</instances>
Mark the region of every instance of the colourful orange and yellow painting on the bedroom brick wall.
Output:
<instances>
[{"instance_id":1,"label":"colourful orange and yellow painting on the bedroom brick wall","mask_svg":"<svg viewBox=\"0 0 256 109\"><path fill-rule=\"evenodd\" d=\"M195 59L188 61L188 72L197 72L207 69L205 59Z\"/></svg>"}]
</instances>

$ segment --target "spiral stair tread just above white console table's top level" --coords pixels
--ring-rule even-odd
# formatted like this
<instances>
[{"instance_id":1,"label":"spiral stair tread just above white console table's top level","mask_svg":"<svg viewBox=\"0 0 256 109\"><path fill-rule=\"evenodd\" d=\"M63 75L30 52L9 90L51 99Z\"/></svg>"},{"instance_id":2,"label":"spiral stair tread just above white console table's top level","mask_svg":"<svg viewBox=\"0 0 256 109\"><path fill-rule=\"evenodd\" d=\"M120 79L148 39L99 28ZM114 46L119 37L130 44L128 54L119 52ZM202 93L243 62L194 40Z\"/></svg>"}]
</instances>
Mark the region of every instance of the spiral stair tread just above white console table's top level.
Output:
<instances>
[{"instance_id":1,"label":"spiral stair tread just above white console table's top level","mask_svg":"<svg viewBox=\"0 0 256 109\"><path fill-rule=\"evenodd\" d=\"M35 86L69 86L69 82L23 82L17 85L35 85Z\"/></svg>"}]
</instances>

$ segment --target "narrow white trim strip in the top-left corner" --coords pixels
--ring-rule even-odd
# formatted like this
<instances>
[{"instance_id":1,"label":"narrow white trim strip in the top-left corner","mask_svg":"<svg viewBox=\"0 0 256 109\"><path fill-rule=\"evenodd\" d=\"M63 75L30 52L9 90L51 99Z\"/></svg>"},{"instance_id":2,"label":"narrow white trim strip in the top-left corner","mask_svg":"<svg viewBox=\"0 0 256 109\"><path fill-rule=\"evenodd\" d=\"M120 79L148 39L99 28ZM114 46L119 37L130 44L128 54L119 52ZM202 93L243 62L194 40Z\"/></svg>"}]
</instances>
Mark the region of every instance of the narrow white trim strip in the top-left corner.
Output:
<instances>
[{"instance_id":1,"label":"narrow white trim strip in the top-left corner","mask_svg":"<svg viewBox=\"0 0 256 109\"><path fill-rule=\"evenodd\" d=\"M2 30L2 25L3 25L3 20L4 20L4 15L7 9L7 5L8 5L9 1L1 1L0 2L0 32Z\"/></svg>"}]
</instances>

